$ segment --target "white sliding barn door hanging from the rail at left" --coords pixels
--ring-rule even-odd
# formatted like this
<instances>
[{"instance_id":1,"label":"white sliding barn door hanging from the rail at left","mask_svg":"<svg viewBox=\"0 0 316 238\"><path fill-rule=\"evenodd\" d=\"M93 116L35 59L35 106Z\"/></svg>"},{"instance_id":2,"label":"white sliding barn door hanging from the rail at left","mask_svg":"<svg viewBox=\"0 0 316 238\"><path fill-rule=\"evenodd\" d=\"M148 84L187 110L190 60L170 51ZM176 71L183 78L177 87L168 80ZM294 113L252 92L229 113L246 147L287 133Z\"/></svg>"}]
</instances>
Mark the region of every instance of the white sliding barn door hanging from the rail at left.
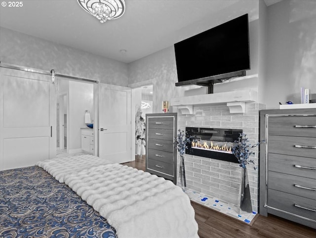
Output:
<instances>
[{"instance_id":1,"label":"white sliding barn door hanging from the rail at left","mask_svg":"<svg viewBox=\"0 0 316 238\"><path fill-rule=\"evenodd\" d=\"M0 68L0 170L56 157L51 76Z\"/></svg>"}]
</instances>

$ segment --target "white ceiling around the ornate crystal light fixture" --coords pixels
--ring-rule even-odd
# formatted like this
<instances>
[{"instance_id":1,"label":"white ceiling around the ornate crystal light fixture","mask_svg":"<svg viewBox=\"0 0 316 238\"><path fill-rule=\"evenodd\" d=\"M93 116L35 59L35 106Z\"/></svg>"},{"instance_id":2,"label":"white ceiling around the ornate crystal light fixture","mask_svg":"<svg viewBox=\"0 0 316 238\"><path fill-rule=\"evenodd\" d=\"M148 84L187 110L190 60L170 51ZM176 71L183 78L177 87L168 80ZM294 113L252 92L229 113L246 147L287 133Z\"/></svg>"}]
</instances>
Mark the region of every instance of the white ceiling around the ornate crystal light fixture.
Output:
<instances>
[{"instance_id":1,"label":"white ceiling around the ornate crystal light fixture","mask_svg":"<svg viewBox=\"0 0 316 238\"><path fill-rule=\"evenodd\" d=\"M22 7L0 7L0 26L129 63L173 45L178 30L237 1L125 0L124 15L102 24L77 0L23 0Z\"/></svg>"}]
</instances>

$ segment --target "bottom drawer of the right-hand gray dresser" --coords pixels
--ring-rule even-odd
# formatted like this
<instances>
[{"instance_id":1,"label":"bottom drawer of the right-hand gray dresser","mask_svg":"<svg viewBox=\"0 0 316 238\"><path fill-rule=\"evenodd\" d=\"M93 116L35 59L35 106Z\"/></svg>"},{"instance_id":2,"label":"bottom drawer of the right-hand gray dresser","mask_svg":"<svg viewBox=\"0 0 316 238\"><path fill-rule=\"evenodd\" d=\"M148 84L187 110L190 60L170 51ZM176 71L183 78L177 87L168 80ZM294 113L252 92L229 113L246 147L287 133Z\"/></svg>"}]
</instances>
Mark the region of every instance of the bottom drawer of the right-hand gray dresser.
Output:
<instances>
[{"instance_id":1,"label":"bottom drawer of the right-hand gray dresser","mask_svg":"<svg viewBox=\"0 0 316 238\"><path fill-rule=\"evenodd\" d=\"M269 189L268 205L316 221L316 200L314 199L303 198ZM311 210L304 209L302 207Z\"/></svg>"}]
</instances>

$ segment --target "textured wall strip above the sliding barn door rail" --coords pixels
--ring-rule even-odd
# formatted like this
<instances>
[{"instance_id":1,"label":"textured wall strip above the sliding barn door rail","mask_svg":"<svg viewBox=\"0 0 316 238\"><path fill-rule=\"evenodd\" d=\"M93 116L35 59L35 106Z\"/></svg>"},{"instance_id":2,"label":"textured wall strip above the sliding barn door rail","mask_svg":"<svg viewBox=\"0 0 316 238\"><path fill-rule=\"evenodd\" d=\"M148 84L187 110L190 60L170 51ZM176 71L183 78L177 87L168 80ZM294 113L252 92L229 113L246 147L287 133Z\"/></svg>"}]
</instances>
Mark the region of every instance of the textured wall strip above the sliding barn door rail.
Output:
<instances>
[{"instance_id":1,"label":"textured wall strip above the sliding barn door rail","mask_svg":"<svg viewBox=\"0 0 316 238\"><path fill-rule=\"evenodd\" d=\"M127 85L127 64L91 53L0 28L0 61L94 79L114 85Z\"/></svg>"}]
</instances>

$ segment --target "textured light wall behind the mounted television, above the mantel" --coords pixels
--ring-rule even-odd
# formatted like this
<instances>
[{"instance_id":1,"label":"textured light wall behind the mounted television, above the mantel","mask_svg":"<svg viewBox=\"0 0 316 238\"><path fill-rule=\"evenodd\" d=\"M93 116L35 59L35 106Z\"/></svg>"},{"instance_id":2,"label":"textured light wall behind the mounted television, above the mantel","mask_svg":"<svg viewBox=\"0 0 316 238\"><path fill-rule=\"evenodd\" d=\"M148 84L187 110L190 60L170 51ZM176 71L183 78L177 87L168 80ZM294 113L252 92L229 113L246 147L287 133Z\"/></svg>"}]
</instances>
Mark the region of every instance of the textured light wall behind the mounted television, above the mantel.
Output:
<instances>
[{"instance_id":1,"label":"textured light wall behind the mounted television, above the mantel","mask_svg":"<svg viewBox=\"0 0 316 238\"><path fill-rule=\"evenodd\" d=\"M178 38L174 42L187 39L198 33L206 31L245 13L249 14L249 40L250 40L250 59L251 70L247 75L258 74L258 1L240 1L236 4L223 9L216 14L212 14L201 21L195 22L183 29L178 30ZM129 63L128 65L129 84L152 79L154 84L154 106L153 113L161 112L161 102L170 100L174 97L184 96L185 91L192 86L175 87L177 79L176 61L174 46L160 50L154 54L140 60ZM255 88L257 90L258 78L245 79L225 84L216 84L214 92L234 91L243 88ZM197 93L205 93L201 90ZM176 112L176 109L170 112Z\"/></svg>"}]
</instances>

